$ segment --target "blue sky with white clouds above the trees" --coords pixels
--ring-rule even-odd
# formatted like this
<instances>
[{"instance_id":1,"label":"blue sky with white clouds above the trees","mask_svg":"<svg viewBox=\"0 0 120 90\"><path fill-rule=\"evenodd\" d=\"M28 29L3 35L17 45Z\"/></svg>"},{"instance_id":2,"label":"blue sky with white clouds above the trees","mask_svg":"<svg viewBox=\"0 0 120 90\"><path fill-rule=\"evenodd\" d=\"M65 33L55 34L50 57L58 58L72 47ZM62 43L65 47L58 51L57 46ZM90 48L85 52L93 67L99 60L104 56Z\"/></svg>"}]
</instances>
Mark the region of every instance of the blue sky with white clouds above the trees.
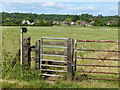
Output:
<instances>
[{"instance_id":1,"label":"blue sky with white clouds above the trees","mask_svg":"<svg viewBox=\"0 0 120 90\"><path fill-rule=\"evenodd\" d=\"M29 1L29 2L28 2ZM2 0L0 12L118 15L118 0Z\"/></svg>"}]
</instances>

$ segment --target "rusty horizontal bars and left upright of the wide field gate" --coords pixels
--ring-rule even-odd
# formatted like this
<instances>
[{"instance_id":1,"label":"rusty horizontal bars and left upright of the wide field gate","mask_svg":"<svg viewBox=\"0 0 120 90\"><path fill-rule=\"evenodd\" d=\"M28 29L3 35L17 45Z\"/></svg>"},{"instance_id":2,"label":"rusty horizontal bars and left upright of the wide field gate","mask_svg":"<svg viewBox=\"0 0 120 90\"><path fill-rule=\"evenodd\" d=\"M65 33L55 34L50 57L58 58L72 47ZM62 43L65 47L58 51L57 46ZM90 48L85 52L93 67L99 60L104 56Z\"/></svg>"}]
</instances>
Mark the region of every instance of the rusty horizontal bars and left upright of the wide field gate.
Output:
<instances>
[{"instance_id":1,"label":"rusty horizontal bars and left upright of the wide field gate","mask_svg":"<svg viewBox=\"0 0 120 90\"><path fill-rule=\"evenodd\" d=\"M98 57L98 58L96 58L96 57L84 57L84 56L78 56L78 52L80 53L80 52L82 52L82 51L92 51L92 52L109 52L109 53L112 53L112 52L114 52L114 53L118 53L118 54L120 54L120 50L107 50L107 49L105 49L105 50L99 50L99 49L87 49L87 48L78 48L78 44L77 43L79 43L79 42L85 42L85 43L90 43L90 42L95 42L95 43L117 43L117 44L119 44L120 43L120 41L112 41L112 40L79 40L79 39L76 39L76 43L75 43L75 52L74 52L74 57L75 57L75 71L76 72L80 72L80 73L99 73L99 74L115 74L115 75L120 75L120 73L119 72L99 72L99 71L93 71L93 69L95 69L96 67L99 67L99 69L100 68L117 68L118 70L119 70L119 68L120 68L120 66L119 65L105 65L105 62L104 61L115 61L115 62L119 62L120 61L120 59L117 57L117 58L102 58L102 57ZM83 60L84 59L84 62L85 62L85 60L101 60L101 61L103 61L104 62L104 65L99 65L99 64L84 64L84 63L82 63L82 64L78 64L77 63L77 61L78 61L78 59L80 60ZM87 71L87 70L77 70L76 69L76 67L93 67L93 69L92 70L90 70L90 71ZM117 77L117 76L116 76ZM119 79L119 77L117 78L117 79L107 79L107 78L90 78L90 77L81 77L82 79L93 79L93 80L111 80L111 81L120 81L120 79Z\"/></svg>"}]
</instances>

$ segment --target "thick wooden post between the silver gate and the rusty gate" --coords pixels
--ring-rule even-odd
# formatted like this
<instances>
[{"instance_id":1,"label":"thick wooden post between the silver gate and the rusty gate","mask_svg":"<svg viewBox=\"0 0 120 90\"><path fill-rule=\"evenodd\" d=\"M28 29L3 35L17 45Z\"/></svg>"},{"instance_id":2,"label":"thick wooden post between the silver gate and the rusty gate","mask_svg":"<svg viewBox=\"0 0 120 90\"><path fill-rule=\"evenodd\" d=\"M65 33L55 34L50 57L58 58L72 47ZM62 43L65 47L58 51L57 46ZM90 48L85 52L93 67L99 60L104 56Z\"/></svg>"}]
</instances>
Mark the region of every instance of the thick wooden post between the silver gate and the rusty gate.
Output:
<instances>
[{"instance_id":1,"label":"thick wooden post between the silver gate and the rusty gate","mask_svg":"<svg viewBox=\"0 0 120 90\"><path fill-rule=\"evenodd\" d=\"M73 80L73 55L74 55L74 39L69 38L67 41L67 80Z\"/></svg>"}]
</instances>

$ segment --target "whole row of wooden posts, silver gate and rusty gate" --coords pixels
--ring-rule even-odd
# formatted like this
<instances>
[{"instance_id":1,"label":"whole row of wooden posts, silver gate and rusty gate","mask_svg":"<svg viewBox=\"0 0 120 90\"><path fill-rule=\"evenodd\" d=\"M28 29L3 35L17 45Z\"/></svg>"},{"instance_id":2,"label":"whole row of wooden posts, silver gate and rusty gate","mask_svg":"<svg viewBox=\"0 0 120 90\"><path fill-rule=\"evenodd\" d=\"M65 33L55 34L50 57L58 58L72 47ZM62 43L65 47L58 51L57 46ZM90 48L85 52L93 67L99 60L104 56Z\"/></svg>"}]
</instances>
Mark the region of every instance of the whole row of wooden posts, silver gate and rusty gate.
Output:
<instances>
[{"instance_id":1,"label":"whole row of wooden posts, silver gate and rusty gate","mask_svg":"<svg viewBox=\"0 0 120 90\"><path fill-rule=\"evenodd\" d=\"M52 41L49 41L51 39ZM48 41L44 41L48 40ZM55 42L54 40L58 40ZM65 40L64 42L61 42L60 40ZM120 68L120 66L113 66L113 65L99 65L99 64L78 64L78 59L81 60L103 60L103 61L115 61L118 62L120 59L111 59L111 58L95 58L95 57L81 57L77 55L77 52L81 51L92 51L92 52L114 52L119 53L119 50L102 50L102 49L81 49L78 48L78 43L80 42L95 42L95 43L117 43L119 44L120 41L112 41L112 40L79 40L79 39L71 39L71 38L54 38L54 37L42 37L40 40L36 41L35 45L30 45L30 37L23 39L23 64L27 67L30 67L30 62L35 61L35 69L40 70L41 76L61 76L53 74L54 72L65 72L68 80L73 80L74 73L96 73L96 74L115 74L119 75L120 73L116 72L99 72L99 71L85 71L85 70L79 70L77 67L109 67L109 68ZM46 46L47 45L47 46ZM54 46L51 46L54 45ZM58 45L58 46L57 46ZM63 46L61 46L63 45ZM64 49L64 51L44 51L43 48L60 48ZM31 52L35 52L35 56L31 57ZM48 57L64 57L64 61L60 60L47 60L43 59L43 56ZM62 63L62 66L61 66ZM58 68L66 68L64 70L51 70L50 68L46 67L58 67ZM46 73L44 73L44 72ZM52 72L52 73L49 73ZM92 77L80 77L81 79L93 79L93 80L111 80L111 81L120 81L119 78L116 79L108 79L108 78L92 78Z\"/></svg>"}]
</instances>

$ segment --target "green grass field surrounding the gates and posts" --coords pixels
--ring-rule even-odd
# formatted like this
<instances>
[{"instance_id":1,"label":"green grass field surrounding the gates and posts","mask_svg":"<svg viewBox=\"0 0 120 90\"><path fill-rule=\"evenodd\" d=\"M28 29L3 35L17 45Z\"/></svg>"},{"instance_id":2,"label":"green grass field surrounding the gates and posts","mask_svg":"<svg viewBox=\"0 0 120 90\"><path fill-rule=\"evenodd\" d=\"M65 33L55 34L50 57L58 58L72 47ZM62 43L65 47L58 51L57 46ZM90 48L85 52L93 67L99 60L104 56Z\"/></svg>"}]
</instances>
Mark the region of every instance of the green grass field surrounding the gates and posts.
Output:
<instances>
[{"instance_id":1,"label":"green grass field surrounding the gates and posts","mask_svg":"<svg viewBox=\"0 0 120 90\"><path fill-rule=\"evenodd\" d=\"M31 45L41 37L61 37L83 40L118 40L118 30L116 27L77 27L77 26L53 26L53 27L27 27L28 33L24 36L31 37ZM68 82L58 79L53 84L46 82L39 77L39 72L25 72L26 78L20 78L20 67L16 65L14 69L10 63L19 50L20 45L20 27L2 27L2 59L3 59L3 87L20 88L118 88L117 82L84 80ZM91 47L100 48L99 44L94 43ZM103 44L100 44L103 45ZM104 48L110 44L106 44ZM112 45L110 47L113 48ZM103 48L103 47L101 47ZM103 56L103 53L97 53ZM94 55L94 53L85 53L85 56ZM89 62L90 63L90 62ZM93 62L92 62L93 63ZM111 64L111 63L110 63ZM116 64L116 63L114 63ZM104 69L104 68L103 68ZM108 69L107 69L108 70ZM106 76L108 77L108 76ZM114 77L114 76L111 76ZM30 78L30 79L29 79Z\"/></svg>"}]
</instances>

